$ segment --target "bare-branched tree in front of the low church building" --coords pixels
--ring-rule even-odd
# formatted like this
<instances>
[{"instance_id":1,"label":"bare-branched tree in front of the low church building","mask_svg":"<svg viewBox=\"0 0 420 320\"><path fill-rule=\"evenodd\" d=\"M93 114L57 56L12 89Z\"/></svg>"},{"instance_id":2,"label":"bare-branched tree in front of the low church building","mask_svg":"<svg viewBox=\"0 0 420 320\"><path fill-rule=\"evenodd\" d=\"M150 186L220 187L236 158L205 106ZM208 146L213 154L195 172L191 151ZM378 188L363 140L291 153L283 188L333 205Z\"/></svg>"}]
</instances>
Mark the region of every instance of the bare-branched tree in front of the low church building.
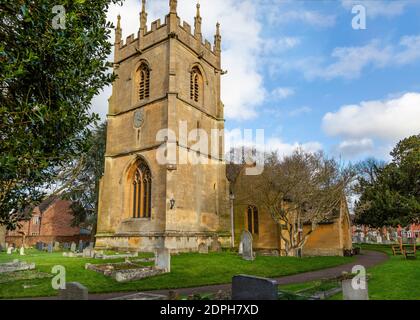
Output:
<instances>
[{"instance_id":1,"label":"bare-branched tree in front of the low church building","mask_svg":"<svg viewBox=\"0 0 420 320\"><path fill-rule=\"evenodd\" d=\"M319 223L340 210L345 190L354 174L323 153L302 150L279 159L267 154L259 176L243 177L235 188L238 202L252 201L267 210L281 226L287 255L295 256ZM303 225L310 225L304 230Z\"/></svg>"}]
</instances>

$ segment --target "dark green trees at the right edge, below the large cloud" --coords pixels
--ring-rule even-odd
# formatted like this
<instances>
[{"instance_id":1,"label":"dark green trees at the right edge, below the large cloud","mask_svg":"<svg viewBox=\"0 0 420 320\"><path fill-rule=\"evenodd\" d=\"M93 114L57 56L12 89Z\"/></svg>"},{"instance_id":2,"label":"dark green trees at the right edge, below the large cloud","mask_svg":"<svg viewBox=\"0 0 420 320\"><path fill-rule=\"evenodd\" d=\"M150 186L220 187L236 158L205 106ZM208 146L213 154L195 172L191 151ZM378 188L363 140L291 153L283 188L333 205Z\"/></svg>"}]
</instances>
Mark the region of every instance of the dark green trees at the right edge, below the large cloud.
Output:
<instances>
[{"instance_id":1,"label":"dark green trees at the right edge, below the large cloud","mask_svg":"<svg viewBox=\"0 0 420 320\"><path fill-rule=\"evenodd\" d=\"M373 162L359 177L356 222L372 227L406 226L420 219L420 135L400 141L388 165ZM372 174L366 175L367 172Z\"/></svg>"}]
</instances>

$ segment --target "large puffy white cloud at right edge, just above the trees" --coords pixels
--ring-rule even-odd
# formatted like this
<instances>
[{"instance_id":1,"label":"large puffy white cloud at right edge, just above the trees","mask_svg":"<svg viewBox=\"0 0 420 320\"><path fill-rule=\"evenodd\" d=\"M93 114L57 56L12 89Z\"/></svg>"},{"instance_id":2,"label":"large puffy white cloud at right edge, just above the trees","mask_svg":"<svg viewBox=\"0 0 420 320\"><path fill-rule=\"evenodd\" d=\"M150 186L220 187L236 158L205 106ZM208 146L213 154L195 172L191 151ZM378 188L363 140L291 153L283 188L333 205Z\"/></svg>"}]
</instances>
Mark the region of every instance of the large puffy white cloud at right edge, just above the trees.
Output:
<instances>
[{"instance_id":1,"label":"large puffy white cloud at right edge, just above the trees","mask_svg":"<svg viewBox=\"0 0 420 320\"><path fill-rule=\"evenodd\" d=\"M420 132L420 93L406 93L389 100L362 101L328 112L323 120L324 131L345 140L378 139L395 143ZM354 145L354 143L353 143ZM349 143L343 147L350 146Z\"/></svg>"}]
</instances>

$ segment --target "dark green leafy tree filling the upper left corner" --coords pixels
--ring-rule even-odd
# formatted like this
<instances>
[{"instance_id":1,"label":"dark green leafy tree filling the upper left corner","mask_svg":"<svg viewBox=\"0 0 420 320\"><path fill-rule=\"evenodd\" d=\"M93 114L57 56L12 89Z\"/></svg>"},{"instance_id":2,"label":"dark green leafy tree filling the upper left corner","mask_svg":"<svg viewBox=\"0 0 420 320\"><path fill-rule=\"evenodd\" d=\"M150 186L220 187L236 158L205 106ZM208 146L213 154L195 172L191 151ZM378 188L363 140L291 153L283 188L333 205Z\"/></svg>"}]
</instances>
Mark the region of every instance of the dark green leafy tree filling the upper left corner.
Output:
<instances>
[{"instance_id":1,"label":"dark green leafy tree filling the upper left corner","mask_svg":"<svg viewBox=\"0 0 420 320\"><path fill-rule=\"evenodd\" d=\"M45 196L60 166L86 150L98 119L91 100L114 78L106 13L119 2L2 0L0 224L9 229ZM53 28L57 4L65 29Z\"/></svg>"}]
</instances>

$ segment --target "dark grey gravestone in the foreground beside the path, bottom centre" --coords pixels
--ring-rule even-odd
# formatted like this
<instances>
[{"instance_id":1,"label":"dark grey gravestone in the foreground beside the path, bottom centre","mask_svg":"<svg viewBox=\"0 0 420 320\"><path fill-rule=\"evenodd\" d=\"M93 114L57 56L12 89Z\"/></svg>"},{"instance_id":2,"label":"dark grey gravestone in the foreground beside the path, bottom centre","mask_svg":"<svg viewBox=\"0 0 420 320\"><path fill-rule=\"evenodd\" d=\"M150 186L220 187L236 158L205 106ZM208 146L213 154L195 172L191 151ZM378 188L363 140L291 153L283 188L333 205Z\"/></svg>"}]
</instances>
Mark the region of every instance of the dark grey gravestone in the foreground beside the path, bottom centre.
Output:
<instances>
[{"instance_id":1,"label":"dark grey gravestone in the foreground beside the path, bottom centre","mask_svg":"<svg viewBox=\"0 0 420 320\"><path fill-rule=\"evenodd\" d=\"M232 300L277 300L276 280L238 275L232 278Z\"/></svg>"}]
</instances>

